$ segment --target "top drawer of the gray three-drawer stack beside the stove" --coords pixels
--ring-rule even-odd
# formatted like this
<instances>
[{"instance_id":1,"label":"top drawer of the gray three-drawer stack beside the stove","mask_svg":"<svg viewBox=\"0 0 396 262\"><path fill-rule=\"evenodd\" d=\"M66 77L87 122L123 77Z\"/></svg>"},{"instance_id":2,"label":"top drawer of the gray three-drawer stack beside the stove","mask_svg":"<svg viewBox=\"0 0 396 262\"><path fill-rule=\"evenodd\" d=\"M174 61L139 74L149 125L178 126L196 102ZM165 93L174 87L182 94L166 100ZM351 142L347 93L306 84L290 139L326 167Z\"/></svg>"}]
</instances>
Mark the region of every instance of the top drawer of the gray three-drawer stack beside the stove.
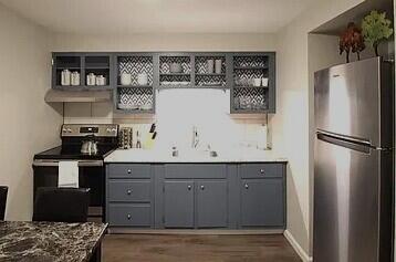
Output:
<instances>
[{"instance_id":1,"label":"top drawer of the gray three-drawer stack beside the stove","mask_svg":"<svg viewBox=\"0 0 396 262\"><path fill-rule=\"evenodd\" d=\"M140 164L111 164L108 165L110 178L150 178L150 165Z\"/></svg>"}]
</instances>

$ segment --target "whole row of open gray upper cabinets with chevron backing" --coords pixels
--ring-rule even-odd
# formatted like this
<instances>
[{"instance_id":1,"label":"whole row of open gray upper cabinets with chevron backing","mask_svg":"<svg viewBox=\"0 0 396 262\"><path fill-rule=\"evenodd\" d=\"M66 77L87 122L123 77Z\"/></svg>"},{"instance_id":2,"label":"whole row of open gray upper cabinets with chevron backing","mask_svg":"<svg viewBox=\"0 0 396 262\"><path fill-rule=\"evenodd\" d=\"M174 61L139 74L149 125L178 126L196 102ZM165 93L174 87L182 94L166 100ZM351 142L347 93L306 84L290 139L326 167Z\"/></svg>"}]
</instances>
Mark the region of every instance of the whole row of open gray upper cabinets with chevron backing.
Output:
<instances>
[{"instance_id":1,"label":"whole row of open gray upper cabinets with chevron backing","mask_svg":"<svg viewBox=\"0 0 396 262\"><path fill-rule=\"evenodd\" d=\"M231 114L275 113L274 52L55 52L52 56L53 88L113 90L117 113L155 114L156 90L164 88L230 90ZM64 70L79 74L80 82L62 83ZM103 76L103 85L91 85L90 75Z\"/></svg>"}]
</instances>

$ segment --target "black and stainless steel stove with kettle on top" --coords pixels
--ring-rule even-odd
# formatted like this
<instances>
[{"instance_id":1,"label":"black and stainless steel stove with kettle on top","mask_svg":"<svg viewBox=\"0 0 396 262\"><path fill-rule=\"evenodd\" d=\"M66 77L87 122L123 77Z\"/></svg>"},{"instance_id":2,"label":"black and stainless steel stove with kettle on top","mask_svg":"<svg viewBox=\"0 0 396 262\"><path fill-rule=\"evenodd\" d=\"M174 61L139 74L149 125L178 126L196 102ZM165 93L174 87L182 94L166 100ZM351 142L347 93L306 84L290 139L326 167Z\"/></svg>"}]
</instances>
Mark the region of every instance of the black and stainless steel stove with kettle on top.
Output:
<instances>
[{"instance_id":1,"label":"black and stainless steel stove with kettle on top","mask_svg":"<svg viewBox=\"0 0 396 262\"><path fill-rule=\"evenodd\" d=\"M59 163L79 161L79 185L90 188L90 221L104 221L105 214L105 169L104 158L117 148L117 125L63 125L62 145L34 155L34 193L39 187L56 187ZM87 149L87 137L95 144L96 154ZM83 147L85 144L86 147ZM93 147L91 149L94 149Z\"/></svg>"}]
</instances>

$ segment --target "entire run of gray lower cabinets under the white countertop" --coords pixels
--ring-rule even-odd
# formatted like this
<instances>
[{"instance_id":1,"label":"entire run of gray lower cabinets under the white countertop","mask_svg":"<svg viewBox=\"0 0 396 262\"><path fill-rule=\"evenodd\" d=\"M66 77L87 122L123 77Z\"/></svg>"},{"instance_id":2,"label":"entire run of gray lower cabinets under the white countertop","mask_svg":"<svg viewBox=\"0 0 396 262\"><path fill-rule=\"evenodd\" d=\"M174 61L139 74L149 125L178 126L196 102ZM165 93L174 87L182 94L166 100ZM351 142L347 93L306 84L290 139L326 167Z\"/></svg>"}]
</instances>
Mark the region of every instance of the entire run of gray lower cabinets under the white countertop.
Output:
<instances>
[{"instance_id":1,"label":"entire run of gray lower cabinets under the white countertop","mask_svg":"<svg viewBox=\"0 0 396 262\"><path fill-rule=\"evenodd\" d=\"M285 163L110 164L111 227L285 228Z\"/></svg>"}]
</instances>

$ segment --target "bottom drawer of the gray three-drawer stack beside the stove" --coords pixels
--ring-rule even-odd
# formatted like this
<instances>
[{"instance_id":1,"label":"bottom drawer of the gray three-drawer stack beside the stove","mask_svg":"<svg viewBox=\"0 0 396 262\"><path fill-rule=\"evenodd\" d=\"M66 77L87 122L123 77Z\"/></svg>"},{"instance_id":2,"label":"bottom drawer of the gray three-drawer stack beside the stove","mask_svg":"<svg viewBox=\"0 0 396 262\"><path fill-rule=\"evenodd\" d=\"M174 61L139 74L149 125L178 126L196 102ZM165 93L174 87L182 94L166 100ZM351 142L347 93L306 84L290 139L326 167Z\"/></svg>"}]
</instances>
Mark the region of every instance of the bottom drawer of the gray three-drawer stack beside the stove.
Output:
<instances>
[{"instance_id":1,"label":"bottom drawer of the gray three-drawer stack beside the stove","mask_svg":"<svg viewBox=\"0 0 396 262\"><path fill-rule=\"evenodd\" d=\"M152 207L131 203L111 203L108 206L108 223L124 227L149 227L152 224Z\"/></svg>"}]
</instances>

